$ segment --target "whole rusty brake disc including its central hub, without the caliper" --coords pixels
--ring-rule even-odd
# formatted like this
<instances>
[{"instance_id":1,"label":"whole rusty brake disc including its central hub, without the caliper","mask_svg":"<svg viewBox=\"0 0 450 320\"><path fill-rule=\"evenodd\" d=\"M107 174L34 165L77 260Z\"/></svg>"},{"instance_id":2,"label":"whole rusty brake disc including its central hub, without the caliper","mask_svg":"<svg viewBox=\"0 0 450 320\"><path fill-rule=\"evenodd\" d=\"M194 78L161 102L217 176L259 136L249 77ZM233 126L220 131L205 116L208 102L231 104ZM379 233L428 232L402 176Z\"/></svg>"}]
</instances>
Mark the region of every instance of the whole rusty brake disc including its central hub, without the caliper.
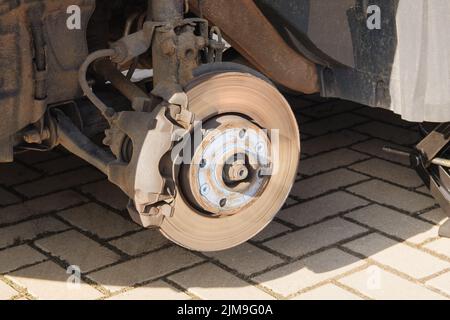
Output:
<instances>
[{"instance_id":1,"label":"whole rusty brake disc including its central hub, without the caliper","mask_svg":"<svg viewBox=\"0 0 450 320\"><path fill-rule=\"evenodd\" d=\"M186 92L205 134L175 170L175 210L161 232L191 250L228 249L257 235L286 201L300 157L297 122L278 90L250 74L206 74Z\"/></svg>"}]
</instances>

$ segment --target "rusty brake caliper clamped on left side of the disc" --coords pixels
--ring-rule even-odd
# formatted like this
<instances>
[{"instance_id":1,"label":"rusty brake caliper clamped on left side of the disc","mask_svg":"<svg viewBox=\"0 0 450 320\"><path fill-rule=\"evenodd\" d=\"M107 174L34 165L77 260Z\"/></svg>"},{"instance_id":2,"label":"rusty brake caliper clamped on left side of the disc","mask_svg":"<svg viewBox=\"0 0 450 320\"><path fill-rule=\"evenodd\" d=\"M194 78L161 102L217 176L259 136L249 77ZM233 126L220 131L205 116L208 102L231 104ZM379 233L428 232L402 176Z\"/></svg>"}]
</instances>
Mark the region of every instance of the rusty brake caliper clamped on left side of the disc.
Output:
<instances>
[{"instance_id":1,"label":"rusty brake caliper clamped on left side of the disc","mask_svg":"<svg viewBox=\"0 0 450 320\"><path fill-rule=\"evenodd\" d=\"M112 124L130 139L132 148L129 162L109 164L108 177L132 199L132 218L144 227L151 226L160 203L168 204L173 199L173 187L161 173L161 161L172 149L173 132L179 127L166 112L163 106L152 113L122 112Z\"/></svg>"}]
</instances>

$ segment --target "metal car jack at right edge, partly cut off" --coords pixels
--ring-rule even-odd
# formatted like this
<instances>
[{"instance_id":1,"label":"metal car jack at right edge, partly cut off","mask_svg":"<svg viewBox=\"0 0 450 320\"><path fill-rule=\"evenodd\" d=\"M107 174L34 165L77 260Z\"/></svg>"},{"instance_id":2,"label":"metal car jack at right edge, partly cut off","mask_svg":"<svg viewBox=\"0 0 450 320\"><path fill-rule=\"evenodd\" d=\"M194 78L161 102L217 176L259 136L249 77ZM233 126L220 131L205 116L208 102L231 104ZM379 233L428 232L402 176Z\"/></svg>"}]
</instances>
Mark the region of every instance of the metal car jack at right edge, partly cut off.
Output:
<instances>
[{"instance_id":1,"label":"metal car jack at right edge, partly cut off","mask_svg":"<svg viewBox=\"0 0 450 320\"><path fill-rule=\"evenodd\" d=\"M384 151L409 157L414 168L431 195L450 217L450 123L439 125L429 133L412 151L385 147ZM439 229L441 237L450 238L450 220Z\"/></svg>"}]
</instances>

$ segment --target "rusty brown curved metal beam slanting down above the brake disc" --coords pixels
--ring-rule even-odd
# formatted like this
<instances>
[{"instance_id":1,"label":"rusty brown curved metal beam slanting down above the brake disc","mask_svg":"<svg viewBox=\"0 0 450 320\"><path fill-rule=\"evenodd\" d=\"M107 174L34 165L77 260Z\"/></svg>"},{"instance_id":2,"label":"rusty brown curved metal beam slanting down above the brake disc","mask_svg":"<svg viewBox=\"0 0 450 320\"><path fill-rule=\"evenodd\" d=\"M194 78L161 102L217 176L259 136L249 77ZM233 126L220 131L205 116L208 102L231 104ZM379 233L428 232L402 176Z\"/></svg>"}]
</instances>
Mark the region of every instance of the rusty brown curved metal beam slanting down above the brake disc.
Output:
<instances>
[{"instance_id":1,"label":"rusty brown curved metal beam slanting down above the brake disc","mask_svg":"<svg viewBox=\"0 0 450 320\"><path fill-rule=\"evenodd\" d=\"M297 92L320 91L316 65L283 40L253 1L190 0L189 3L193 12L200 15L201 11L236 50L273 81Z\"/></svg>"}]
</instances>

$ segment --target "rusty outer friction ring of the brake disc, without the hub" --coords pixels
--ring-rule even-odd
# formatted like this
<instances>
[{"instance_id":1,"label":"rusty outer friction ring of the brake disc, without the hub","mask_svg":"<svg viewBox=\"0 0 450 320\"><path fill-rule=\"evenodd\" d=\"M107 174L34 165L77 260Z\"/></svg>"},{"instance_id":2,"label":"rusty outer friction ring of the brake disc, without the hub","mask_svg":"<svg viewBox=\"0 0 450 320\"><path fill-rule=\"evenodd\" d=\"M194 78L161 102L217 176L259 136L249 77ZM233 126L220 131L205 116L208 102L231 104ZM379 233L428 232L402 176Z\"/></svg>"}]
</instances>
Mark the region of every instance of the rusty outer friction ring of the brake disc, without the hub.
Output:
<instances>
[{"instance_id":1,"label":"rusty outer friction ring of the brake disc, without the hub","mask_svg":"<svg viewBox=\"0 0 450 320\"><path fill-rule=\"evenodd\" d=\"M197 120L223 114L245 115L261 128L279 130L270 135L272 175L265 191L247 208L231 216L214 217L195 209L183 195L175 197L175 210L166 217L161 232L189 249L217 251L239 245L264 229L284 204L297 175L300 137L297 122L285 98L264 80L250 74L206 74L187 87L189 109ZM178 181L179 172L175 171ZM179 182L177 182L178 185Z\"/></svg>"}]
</instances>

